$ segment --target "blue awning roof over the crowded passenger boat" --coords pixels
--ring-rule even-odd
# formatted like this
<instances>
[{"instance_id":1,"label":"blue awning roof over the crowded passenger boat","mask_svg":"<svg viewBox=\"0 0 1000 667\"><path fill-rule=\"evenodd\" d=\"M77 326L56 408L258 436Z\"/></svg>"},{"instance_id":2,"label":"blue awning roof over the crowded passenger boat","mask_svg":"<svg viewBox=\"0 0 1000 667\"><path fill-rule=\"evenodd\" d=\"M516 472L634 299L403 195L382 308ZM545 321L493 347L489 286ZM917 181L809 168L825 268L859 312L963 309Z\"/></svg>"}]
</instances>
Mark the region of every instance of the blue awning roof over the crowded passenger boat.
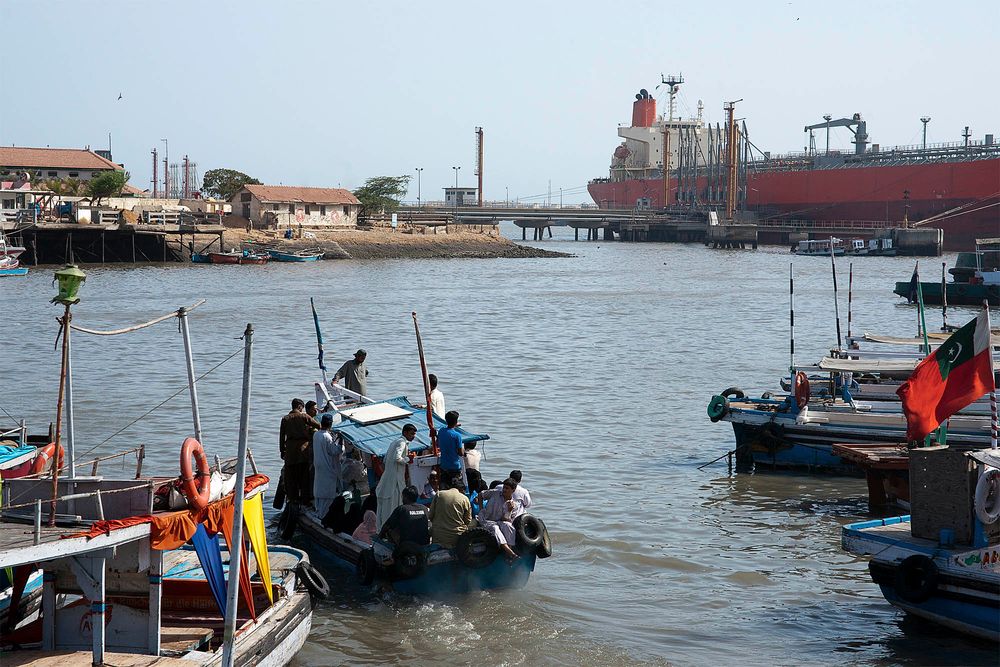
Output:
<instances>
[{"instance_id":1,"label":"blue awning roof over the crowded passenger boat","mask_svg":"<svg viewBox=\"0 0 1000 667\"><path fill-rule=\"evenodd\" d=\"M411 452L420 452L429 449L431 446L430 431L427 428L427 410L418 408L410 403L405 396L390 398L387 401L380 401L366 405L365 408L373 408L378 405L385 406L385 414L395 414L398 416L382 419L374 423L361 423L349 417L339 424L333 425L333 432L339 433L345 440L363 452L374 456L385 456L396 440L403 433L403 427L413 424L417 427L417 436L410 443ZM396 410L393 410L396 408ZM442 429L447 424L445 421L434 415L434 428ZM462 442L478 442L489 440L490 436L479 433L470 433L465 429L458 429L462 434Z\"/></svg>"}]
</instances>

